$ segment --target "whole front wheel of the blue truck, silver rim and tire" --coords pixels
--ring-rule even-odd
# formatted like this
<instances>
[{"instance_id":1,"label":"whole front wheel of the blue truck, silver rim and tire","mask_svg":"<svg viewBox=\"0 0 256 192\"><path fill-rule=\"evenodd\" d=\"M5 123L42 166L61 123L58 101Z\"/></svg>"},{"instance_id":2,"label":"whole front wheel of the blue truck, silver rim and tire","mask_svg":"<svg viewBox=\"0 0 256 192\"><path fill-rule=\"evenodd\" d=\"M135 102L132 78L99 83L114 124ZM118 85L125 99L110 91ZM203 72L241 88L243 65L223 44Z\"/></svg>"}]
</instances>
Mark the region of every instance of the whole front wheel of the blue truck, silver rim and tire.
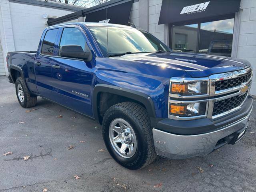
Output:
<instances>
[{"instance_id":1,"label":"whole front wheel of the blue truck, silver rim and tire","mask_svg":"<svg viewBox=\"0 0 256 192\"><path fill-rule=\"evenodd\" d=\"M143 168L156 158L148 113L137 103L110 107L103 117L102 134L110 155L128 169Z\"/></svg>"}]
</instances>

